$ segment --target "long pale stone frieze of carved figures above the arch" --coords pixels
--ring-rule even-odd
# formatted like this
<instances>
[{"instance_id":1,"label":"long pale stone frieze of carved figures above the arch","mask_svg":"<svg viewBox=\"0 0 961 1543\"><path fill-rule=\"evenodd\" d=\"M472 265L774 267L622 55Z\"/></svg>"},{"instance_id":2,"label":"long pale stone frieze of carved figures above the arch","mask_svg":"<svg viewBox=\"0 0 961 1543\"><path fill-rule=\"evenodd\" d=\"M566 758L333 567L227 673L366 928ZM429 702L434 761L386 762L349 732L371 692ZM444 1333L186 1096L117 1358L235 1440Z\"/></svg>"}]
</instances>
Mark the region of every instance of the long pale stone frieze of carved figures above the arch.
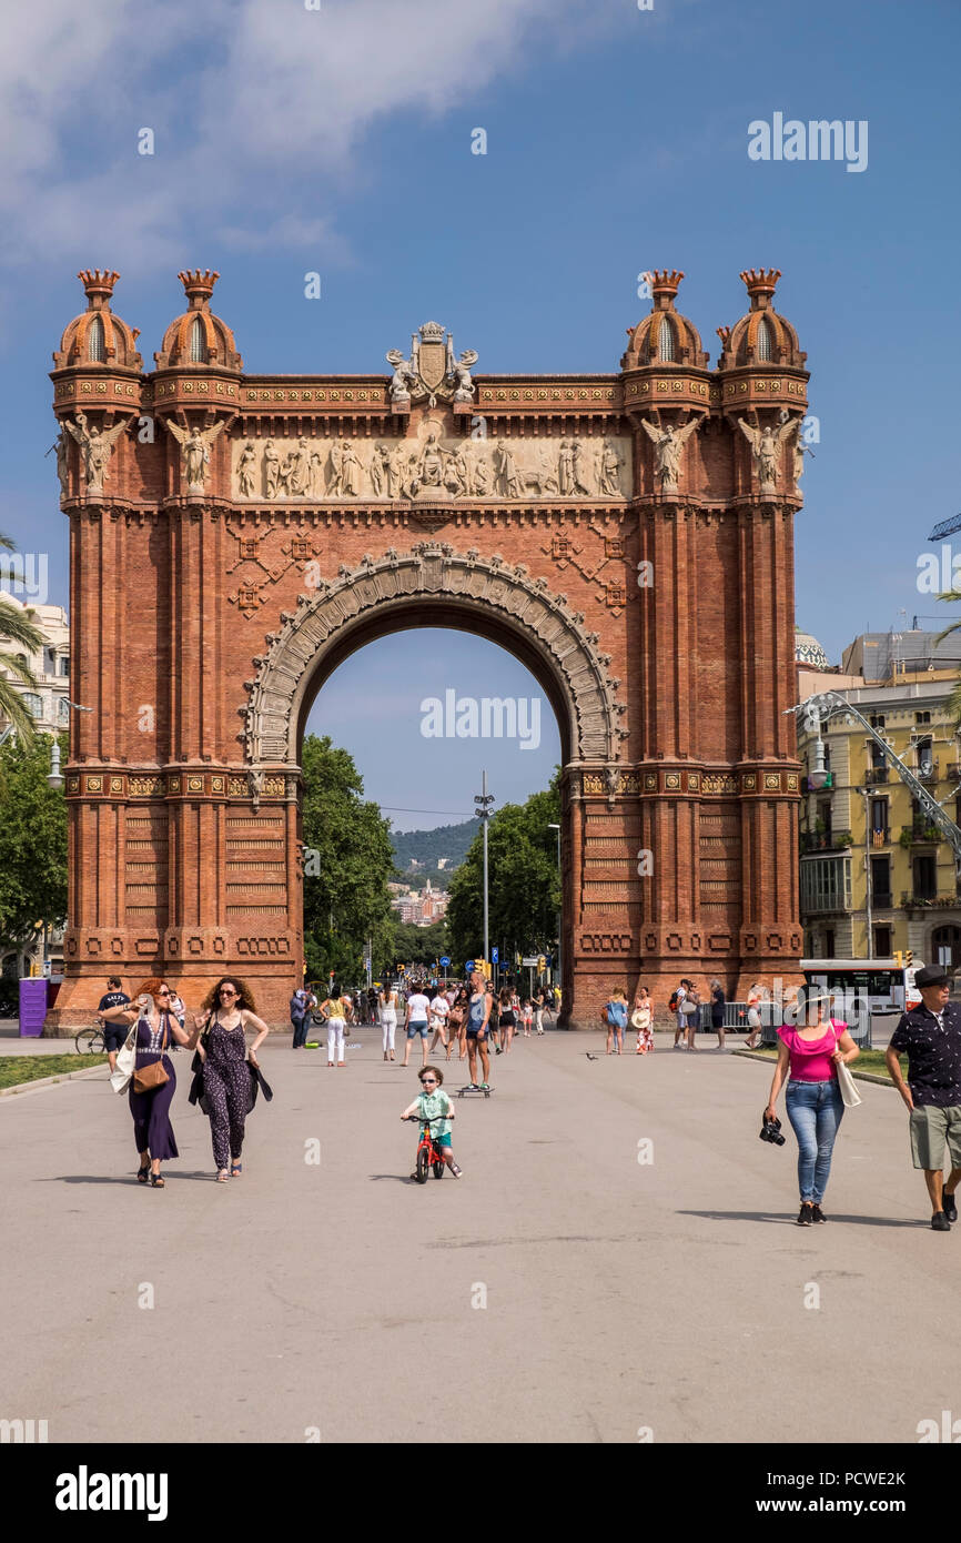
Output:
<instances>
[{"instance_id":1,"label":"long pale stone frieze of carved figures above the arch","mask_svg":"<svg viewBox=\"0 0 961 1543\"><path fill-rule=\"evenodd\" d=\"M429 421L409 440L239 438L231 491L238 500L344 500L430 497L629 498L631 440L452 438Z\"/></svg>"}]
</instances>

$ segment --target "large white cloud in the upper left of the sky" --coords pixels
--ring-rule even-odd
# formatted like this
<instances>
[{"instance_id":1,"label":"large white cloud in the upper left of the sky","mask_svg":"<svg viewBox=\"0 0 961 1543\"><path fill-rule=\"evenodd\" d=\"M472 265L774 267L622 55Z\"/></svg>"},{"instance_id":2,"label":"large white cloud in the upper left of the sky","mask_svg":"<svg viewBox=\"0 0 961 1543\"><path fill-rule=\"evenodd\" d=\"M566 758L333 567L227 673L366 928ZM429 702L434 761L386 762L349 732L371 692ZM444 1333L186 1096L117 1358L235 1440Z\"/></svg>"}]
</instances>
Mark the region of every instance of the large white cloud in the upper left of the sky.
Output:
<instances>
[{"instance_id":1,"label":"large white cloud in the upper left of the sky","mask_svg":"<svg viewBox=\"0 0 961 1543\"><path fill-rule=\"evenodd\" d=\"M620 0L42 0L0 17L0 244L8 261L116 262L150 272L185 242L322 247L315 213L361 170L389 119L464 108L537 68ZM6 34L6 35L5 35ZM483 123L483 114L480 117ZM156 154L139 156L139 128ZM458 130L464 134L474 122ZM304 207L292 210L292 198ZM216 250L214 250L216 256Z\"/></svg>"}]
</instances>

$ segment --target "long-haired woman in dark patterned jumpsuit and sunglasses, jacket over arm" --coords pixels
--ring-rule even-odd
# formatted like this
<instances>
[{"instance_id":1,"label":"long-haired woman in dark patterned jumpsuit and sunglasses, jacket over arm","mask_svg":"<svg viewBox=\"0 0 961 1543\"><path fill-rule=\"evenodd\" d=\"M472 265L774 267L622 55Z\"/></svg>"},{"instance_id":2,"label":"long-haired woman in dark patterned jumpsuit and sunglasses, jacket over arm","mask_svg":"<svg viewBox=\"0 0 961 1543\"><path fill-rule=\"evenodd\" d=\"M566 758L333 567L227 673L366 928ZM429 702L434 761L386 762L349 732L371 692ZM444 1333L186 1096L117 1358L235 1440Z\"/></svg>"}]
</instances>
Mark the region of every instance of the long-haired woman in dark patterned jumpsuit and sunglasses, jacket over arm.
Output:
<instances>
[{"instance_id":1,"label":"long-haired woman in dark patterned jumpsuit and sunglasses, jacket over arm","mask_svg":"<svg viewBox=\"0 0 961 1543\"><path fill-rule=\"evenodd\" d=\"M250 1106L250 1071L259 1069L258 1049L270 1034L258 1018L250 988L238 975L224 975L207 992L201 1012L194 1015L194 1034L201 1035L204 1063L204 1102L210 1120L210 1143L217 1170L217 1182L239 1179L244 1165L244 1131ZM247 1049L247 1029L256 1038Z\"/></svg>"}]
</instances>

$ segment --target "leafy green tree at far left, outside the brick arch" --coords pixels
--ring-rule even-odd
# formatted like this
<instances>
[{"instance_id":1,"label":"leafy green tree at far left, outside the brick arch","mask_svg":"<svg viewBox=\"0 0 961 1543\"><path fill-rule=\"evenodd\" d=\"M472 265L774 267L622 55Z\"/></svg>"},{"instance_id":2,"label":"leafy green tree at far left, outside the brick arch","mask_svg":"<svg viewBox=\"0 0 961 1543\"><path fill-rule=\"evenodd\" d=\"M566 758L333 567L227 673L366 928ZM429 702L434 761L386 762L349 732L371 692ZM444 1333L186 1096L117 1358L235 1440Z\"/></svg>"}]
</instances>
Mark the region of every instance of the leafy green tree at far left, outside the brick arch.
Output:
<instances>
[{"instance_id":1,"label":"leafy green tree at far left, outside the brick arch","mask_svg":"<svg viewBox=\"0 0 961 1543\"><path fill-rule=\"evenodd\" d=\"M66 734L60 734L66 759ZM0 940L25 943L37 921L66 920L66 804L46 785L49 734L0 745Z\"/></svg>"}]
</instances>

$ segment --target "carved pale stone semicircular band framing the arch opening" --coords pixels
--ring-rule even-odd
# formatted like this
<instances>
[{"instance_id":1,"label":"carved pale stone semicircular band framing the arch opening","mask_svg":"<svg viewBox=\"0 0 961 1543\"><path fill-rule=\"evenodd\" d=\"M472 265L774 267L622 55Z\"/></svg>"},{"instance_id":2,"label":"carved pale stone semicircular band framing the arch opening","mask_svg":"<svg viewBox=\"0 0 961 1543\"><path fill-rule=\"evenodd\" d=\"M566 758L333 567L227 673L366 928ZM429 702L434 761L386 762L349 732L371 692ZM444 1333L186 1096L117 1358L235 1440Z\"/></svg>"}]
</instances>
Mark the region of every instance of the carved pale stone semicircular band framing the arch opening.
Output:
<instances>
[{"instance_id":1,"label":"carved pale stone semicircular band framing the arch opening","mask_svg":"<svg viewBox=\"0 0 961 1543\"><path fill-rule=\"evenodd\" d=\"M332 648L341 656L353 651L352 634L369 630L372 620L383 631L392 614L409 606L416 606L424 625L438 625L438 613L454 609L478 631L494 630L507 647L514 637L520 651L537 654L554 677L565 762L603 767L617 759L626 738L620 727L625 707L615 696L620 680L608 677L611 657L597 651L599 634L586 631L583 614L568 608L566 596L552 594L545 579L531 579L523 565L420 542L409 552L366 555L356 569L342 565L338 579L321 580L313 594L298 596L295 613L282 613L282 628L270 634L270 653L255 660L258 674L247 682L250 704L241 711L248 764L296 764L302 710L319 657Z\"/></svg>"}]
</instances>

